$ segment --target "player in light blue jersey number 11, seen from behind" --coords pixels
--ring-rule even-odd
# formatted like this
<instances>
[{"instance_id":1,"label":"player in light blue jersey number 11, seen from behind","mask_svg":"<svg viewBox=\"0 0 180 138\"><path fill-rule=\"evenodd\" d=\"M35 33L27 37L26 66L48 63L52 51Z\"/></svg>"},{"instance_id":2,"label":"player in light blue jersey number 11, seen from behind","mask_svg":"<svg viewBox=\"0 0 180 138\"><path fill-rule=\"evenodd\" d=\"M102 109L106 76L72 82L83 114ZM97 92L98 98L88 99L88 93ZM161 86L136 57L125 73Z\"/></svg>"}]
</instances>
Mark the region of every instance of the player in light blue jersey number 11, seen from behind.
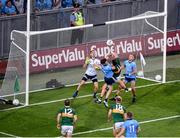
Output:
<instances>
[{"instance_id":1,"label":"player in light blue jersey number 11, seen from behind","mask_svg":"<svg viewBox=\"0 0 180 138\"><path fill-rule=\"evenodd\" d=\"M126 113L126 121L122 125L121 131L117 134L117 137L122 137L125 133L127 138L137 138L140 131L139 123L133 119L133 113Z\"/></svg>"}]
</instances>

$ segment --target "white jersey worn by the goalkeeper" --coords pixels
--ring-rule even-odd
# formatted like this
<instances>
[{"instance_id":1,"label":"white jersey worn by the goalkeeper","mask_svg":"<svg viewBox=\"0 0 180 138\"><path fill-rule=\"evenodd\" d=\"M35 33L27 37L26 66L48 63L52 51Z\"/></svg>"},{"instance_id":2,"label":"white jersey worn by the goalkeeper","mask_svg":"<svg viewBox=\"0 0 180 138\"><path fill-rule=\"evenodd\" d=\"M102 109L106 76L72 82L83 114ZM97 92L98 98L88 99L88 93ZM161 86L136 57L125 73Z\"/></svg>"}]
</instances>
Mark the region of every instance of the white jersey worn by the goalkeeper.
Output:
<instances>
[{"instance_id":1,"label":"white jersey worn by the goalkeeper","mask_svg":"<svg viewBox=\"0 0 180 138\"><path fill-rule=\"evenodd\" d=\"M87 65L87 70L85 72L85 74L89 75L89 76L95 76L97 74L96 69L94 68L94 64L100 64L100 60L99 59L89 59L89 64Z\"/></svg>"}]
</instances>

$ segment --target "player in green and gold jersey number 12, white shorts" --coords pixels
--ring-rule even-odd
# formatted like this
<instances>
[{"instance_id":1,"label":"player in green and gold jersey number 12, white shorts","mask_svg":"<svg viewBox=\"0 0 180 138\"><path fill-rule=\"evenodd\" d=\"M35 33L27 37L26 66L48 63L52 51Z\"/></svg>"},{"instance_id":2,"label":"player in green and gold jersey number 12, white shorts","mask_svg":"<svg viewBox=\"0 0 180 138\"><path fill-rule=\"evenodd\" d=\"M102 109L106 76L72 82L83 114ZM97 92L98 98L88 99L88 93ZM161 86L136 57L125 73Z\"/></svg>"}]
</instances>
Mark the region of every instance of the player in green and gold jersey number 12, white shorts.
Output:
<instances>
[{"instance_id":1,"label":"player in green and gold jersey number 12, white shorts","mask_svg":"<svg viewBox=\"0 0 180 138\"><path fill-rule=\"evenodd\" d=\"M70 107L70 100L64 101L64 108L57 115L57 128L61 130L63 137L72 137L74 125L77 121L75 110Z\"/></svg>"}]
</instances>

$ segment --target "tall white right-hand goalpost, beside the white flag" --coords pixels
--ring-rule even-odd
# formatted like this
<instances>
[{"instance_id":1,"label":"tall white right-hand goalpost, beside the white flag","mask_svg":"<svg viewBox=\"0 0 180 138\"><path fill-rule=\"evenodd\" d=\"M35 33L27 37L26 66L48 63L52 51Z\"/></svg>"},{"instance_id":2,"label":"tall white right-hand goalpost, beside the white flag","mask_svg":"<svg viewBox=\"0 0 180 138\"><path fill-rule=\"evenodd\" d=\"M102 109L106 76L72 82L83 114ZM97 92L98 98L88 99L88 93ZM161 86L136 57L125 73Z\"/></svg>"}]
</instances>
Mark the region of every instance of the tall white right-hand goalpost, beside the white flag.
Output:
<instances>
[{"instance_id":1,"label":"tall white right-hand goalpost, beside the white flag","mask_svg":"<svg viewBox=\"0 0 180 138\"><path fill-rule=\"evenodd\" d=\"M166 52L167 52L167 2L164 0L164 34L163 34L163 80L162 83L166 83Z\"/></svg>"}]
</instances>

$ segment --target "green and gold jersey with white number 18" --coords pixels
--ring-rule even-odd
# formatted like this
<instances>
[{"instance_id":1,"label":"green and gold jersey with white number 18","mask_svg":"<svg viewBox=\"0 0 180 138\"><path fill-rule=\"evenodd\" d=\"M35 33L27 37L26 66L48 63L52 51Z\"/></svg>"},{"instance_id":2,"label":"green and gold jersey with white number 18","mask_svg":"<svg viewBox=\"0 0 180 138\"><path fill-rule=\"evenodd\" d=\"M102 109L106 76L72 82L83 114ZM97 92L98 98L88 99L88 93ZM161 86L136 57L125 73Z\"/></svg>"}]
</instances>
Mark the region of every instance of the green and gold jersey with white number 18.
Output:
<instances>
[{"instance_id":1,"label":"green and gold jersey with white number 18","mask_svg":"<svg viewBox=\"0 0 180 138\"><path fill-rule=\"evenodd\" d=\"M124 122L124 113L126 112L124 106L122 106L121 104L112 104L111 110L114 123Z\"/></svg>"}]
</instances>

